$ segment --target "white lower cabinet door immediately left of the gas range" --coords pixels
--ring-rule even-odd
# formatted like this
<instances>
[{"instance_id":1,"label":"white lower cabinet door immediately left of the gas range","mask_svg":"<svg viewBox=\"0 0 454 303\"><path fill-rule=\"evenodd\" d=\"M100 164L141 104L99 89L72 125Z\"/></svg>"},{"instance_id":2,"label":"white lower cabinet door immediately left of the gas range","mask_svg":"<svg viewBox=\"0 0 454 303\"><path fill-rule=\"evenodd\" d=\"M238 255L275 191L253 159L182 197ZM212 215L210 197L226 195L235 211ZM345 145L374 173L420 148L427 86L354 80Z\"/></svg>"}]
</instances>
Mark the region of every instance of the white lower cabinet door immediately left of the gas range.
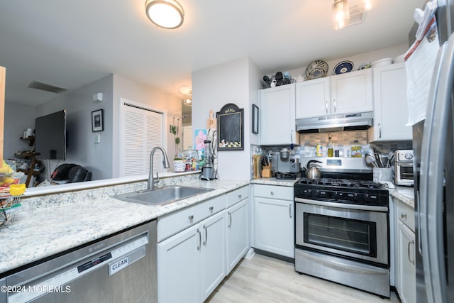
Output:
<instances>
[{"instance_id":1,"label":"white lower cabinet door immediately left of the gas range","mask_svg":"<svg viewBox=\"0 0 454 303\"><path fill-rule=\"evenodd\" d=\"M255 248L294 258L293 201L255 197Z\"/></svg>"}]
</instances>

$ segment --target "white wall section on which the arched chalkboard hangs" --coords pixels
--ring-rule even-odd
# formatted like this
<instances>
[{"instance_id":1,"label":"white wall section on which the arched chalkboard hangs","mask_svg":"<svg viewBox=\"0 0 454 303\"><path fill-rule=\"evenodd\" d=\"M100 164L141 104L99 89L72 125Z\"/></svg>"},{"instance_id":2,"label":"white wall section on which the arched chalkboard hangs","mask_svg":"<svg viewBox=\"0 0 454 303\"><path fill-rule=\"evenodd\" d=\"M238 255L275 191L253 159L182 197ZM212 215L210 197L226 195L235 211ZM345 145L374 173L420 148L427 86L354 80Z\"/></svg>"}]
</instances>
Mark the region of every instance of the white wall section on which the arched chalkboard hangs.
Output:
<instances>
[{"instance_id":1,"label":"white wall section on which the arched chalkboard hangs","mask_svg":"<svg viewBox=\"0 0 454 303\"><path fill-rule=\"evenodd\" d=\"M250 180L251 88L260 75L248 57L192 73L192 129L206 128L209 111L216 113L228 104L244 109L244 150L219 150L218 173L223 180ZM257 94L257 88L255 94ZM254 138L254 142L257 138Z\"/></svg>"}]
</instances>

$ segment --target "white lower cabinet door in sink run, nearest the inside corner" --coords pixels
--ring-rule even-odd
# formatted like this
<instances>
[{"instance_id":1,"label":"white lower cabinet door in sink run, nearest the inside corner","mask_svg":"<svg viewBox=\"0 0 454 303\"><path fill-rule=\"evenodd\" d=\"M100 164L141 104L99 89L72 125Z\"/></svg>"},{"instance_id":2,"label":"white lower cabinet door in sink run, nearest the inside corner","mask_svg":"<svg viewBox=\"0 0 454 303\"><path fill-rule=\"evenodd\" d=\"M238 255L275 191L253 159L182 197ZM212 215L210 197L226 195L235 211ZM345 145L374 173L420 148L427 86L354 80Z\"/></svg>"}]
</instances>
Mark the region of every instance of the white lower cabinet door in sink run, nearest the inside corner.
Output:
<instances>
[{"instance_id":1,"label":"white lower cabinet door in sink run, nearest the inside corner","mask_svg":"<svg viewBox=\"0 0 454 303\"><path fill-rule=\"evenodd\" d=\"M227 275L249 249L248 201L243 199L226 212Z\"/></svg>"}]
</instances>

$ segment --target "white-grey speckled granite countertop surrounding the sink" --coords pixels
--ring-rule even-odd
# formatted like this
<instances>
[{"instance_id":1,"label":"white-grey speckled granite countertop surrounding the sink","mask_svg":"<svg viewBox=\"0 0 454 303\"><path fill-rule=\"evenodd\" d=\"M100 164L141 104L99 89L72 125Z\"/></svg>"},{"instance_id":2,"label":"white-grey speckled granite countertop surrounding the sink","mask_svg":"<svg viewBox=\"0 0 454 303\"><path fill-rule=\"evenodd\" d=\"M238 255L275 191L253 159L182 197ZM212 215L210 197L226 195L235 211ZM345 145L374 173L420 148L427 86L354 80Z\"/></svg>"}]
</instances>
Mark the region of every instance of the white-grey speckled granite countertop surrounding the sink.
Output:
<instances>
[{"instance_id":1,"label":"white-grey speckled granite countertop surrounding the sink","mask_svg":"<svg viewBox=\"0 0 454 303\"><path fill-rule=\"evenodd\" d=\"M23 206L9 228L1 228L0 276L22 265L109 236L131 226L248 185L249 181L212 180L187 186L214 188L179 202L150 206L111 197L38 208Z\"/></svg>"}]
</instances>

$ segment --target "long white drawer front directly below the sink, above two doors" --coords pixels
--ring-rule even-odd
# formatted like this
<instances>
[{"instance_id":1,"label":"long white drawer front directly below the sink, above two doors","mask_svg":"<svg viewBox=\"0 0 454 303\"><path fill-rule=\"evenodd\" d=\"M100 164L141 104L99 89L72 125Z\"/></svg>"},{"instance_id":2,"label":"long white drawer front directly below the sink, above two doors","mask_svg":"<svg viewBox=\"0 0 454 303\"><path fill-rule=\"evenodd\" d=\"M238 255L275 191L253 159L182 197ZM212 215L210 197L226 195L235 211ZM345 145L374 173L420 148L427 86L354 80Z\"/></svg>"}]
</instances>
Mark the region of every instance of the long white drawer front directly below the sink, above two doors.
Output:
<instances>
[{"instance_id":1,"label":"long white drawer front directly below the sink, above two doors","mask_svg":"<svg viewBox=\"0 0 454 303\"><path fill-rule=\"evenodd\" d=\"M216 214L226 206L226 195L194 204L171 214L157 218L157 242Z\"/></svg>"}]
</instances>

